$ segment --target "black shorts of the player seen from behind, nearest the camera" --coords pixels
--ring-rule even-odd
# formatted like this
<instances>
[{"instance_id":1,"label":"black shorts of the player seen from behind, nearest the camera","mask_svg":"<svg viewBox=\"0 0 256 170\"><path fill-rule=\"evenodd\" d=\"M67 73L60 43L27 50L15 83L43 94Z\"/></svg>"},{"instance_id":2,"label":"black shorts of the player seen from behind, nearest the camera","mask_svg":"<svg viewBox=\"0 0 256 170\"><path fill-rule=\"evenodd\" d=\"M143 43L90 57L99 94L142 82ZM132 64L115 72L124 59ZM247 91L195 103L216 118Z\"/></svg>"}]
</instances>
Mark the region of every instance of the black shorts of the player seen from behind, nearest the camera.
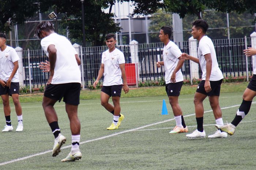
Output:
<instances>
[{"instance_id":1,"label":"black shorts of the player seen from behind, nearest the camera","mask_svg":"<svg viewBox=\"0 0 256 170\"><path fill-rule=\"evenodd\" d=\"M44 96L59 102L63 98L63 102L77 106L79 105L80 90L80 83L48 84Z\"/></svg>"}]
</instances>

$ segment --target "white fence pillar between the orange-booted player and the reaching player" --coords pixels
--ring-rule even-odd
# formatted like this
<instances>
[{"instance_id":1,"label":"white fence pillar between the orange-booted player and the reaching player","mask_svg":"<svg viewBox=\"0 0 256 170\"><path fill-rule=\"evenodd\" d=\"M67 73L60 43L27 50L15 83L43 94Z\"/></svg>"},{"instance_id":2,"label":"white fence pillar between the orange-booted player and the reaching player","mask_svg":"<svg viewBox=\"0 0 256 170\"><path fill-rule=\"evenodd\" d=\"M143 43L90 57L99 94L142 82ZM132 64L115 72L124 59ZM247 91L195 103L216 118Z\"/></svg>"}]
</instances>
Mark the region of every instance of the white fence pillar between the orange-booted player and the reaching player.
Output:
<instances>
[{"instance_id":1,"label":"white fence pillar between the orange-booted player and the reaching player","mask_svg":"<svg viewBox=\"0 0 256 170\"><path fill-rule=\"evenodd\" d=\"M197 56L197 41L193 37L189 41L189 55L198 58ZM193 79L199 79L199 64L189 60L190 65L190 83L193 84Z\"/></svg>"}]
</instances>

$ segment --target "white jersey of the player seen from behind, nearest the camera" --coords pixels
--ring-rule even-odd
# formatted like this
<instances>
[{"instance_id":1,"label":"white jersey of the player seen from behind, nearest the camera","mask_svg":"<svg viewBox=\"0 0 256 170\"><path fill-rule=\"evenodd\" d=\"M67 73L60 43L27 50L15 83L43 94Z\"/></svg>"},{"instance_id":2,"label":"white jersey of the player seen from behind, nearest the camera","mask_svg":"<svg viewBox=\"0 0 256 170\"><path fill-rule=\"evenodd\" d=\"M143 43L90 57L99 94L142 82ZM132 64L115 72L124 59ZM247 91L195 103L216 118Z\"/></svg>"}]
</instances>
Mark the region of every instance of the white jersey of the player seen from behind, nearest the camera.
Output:
<instances>
[{"instance_id":1,"label":"white jersey of the player seen from behind, nearest the camera","mask_svg":"<svg viewBox=\"0 0 256 170\"><path fill-rule=\"evenodd\" d=\"M75 58L77 53L71 42L66 37L56 33L43 38L41 46L48 57L49 45L54 45L57 49L52 84L81 83L81 72Z\"/></svg>"}]
</instances>

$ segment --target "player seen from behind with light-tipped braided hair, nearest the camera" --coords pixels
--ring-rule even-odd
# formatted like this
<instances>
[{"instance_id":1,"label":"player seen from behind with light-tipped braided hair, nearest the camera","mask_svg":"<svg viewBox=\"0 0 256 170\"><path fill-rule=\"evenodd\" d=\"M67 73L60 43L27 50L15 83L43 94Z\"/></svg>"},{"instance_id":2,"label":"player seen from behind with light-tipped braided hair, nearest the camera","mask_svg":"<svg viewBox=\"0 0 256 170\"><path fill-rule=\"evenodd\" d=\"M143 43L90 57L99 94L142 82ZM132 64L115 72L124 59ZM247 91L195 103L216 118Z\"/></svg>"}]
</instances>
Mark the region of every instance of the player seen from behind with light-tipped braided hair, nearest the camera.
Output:
<instances>
[{"instance_id":1,"label":"player seen from behind with light-tipped braided hair, nearest the camera","mask_svg":"<svg viewBox=\"0 0 256 170\"><path fill-rule=\"evenodd\" d=\"M54 32L53 26L52 22L42 22L35 30L50 62L49 79L44 91L42 106L55 138L52 156L57 156L66 137L60 133L54 104L63 98L70 122L72 145L71 152L61 161L74 161L82 158L79 150L80 121L78 119L81 73L74 57L74 48L67 38Z\"/></svg>"}]
</instances>

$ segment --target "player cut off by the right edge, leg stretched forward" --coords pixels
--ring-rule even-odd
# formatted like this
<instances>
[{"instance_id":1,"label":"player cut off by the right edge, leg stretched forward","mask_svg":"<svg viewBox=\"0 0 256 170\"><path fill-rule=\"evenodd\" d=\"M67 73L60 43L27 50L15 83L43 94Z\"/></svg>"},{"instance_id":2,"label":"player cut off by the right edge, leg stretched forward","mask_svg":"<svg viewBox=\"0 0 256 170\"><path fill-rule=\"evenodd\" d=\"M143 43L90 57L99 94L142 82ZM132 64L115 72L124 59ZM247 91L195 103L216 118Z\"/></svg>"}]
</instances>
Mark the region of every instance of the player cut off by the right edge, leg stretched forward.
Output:
<instances>
[{"instance_id":1,"label":"player cut off by the right edge, leg stretched forward","mask_svg":"<svg viewBox=\"0 0 256 170\"><path fill-rule=\"evenodd\" d=\"M256 49L249 47L248 49L244 50L244 54L247 57L256 55ZM253 60L253 65L256 65L256 60ZM241 122L241 120L248 114L252 99L256 96L256 68L253 67L253 76L251 81L249 82L247 88L243 94L242 104L240 105L239 109L237 110L237 114L234 117L234 120L227 125L216 125L217 128L221 129L224 132L227 132L229 135L233 135L236 131L236 126Z\"/></svg>"}]
</instances>

